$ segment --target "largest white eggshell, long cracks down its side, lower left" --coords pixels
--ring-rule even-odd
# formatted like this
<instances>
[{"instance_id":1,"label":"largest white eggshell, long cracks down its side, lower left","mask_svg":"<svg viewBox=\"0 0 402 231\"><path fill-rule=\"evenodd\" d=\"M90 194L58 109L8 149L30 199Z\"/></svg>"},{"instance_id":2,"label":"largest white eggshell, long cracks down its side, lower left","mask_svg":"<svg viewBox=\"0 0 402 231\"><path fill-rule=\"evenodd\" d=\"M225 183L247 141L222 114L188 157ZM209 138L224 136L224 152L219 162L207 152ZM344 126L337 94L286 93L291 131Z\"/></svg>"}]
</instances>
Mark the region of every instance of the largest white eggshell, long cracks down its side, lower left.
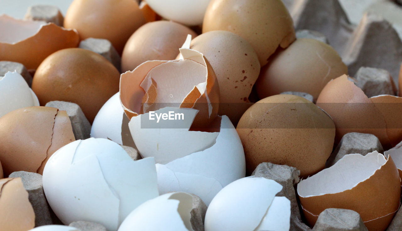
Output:
<instances>
[{"instance_id":1,"label":"largest white eggshell, long cracks down its side, lower left","mask_svg":"<svg viewBox=\"0 0 402 231\"><path fill-rule=\"evenodd\" d=\"M116 231L133 209L158 196L155 161L133 161L111 140L77 140L48 160L43 190L64 224L91 221Z\"/></svg>"}]
</instances>

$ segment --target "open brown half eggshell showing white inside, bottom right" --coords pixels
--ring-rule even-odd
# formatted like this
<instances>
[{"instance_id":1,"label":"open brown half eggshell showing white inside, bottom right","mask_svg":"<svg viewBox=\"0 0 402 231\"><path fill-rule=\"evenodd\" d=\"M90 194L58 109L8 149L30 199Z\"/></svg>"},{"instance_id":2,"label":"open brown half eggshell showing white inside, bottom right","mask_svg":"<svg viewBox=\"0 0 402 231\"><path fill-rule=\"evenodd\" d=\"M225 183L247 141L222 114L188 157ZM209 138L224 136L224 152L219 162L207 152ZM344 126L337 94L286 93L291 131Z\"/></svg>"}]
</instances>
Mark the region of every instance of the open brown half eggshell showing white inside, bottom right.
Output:
<instances>
[{"instance_id":1,"label":"open brown half eggshell showing white inside, bottom right","mask_svg":"<svg viewBox=\"0 0 402 231\"><path fill-rule=\"evenodd\" d=\"M399 209L400 178L392 158L349 154L301 180L297 193L310 226L325 209L338 208L359 213L369 231L384 231Z\"/></svg>"}]
</instances>

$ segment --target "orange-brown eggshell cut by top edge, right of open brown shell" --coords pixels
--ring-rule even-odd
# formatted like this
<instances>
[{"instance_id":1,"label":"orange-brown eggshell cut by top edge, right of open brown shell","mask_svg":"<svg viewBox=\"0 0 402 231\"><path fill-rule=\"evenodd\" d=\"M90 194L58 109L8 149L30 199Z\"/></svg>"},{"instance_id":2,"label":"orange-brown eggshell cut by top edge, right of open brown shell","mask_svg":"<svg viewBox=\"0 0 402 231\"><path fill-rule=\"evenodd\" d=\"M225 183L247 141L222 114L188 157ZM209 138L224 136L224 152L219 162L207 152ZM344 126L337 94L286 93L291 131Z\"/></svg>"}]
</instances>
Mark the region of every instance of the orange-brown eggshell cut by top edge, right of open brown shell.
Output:
<instances>
[{"instance_id":1,"label":"orange-brown eggshell cut by top edge, right of open brown shell","mask_svg":"<svg viewBox=\"0 0 402 231\"><path fill-rule=\"evenodd\" d=\"M121 54L131 34L145 22L133 0L74 0L64 18L64 27L78 30L82 40L107 39Z\"/></svg>"}]
</instances>

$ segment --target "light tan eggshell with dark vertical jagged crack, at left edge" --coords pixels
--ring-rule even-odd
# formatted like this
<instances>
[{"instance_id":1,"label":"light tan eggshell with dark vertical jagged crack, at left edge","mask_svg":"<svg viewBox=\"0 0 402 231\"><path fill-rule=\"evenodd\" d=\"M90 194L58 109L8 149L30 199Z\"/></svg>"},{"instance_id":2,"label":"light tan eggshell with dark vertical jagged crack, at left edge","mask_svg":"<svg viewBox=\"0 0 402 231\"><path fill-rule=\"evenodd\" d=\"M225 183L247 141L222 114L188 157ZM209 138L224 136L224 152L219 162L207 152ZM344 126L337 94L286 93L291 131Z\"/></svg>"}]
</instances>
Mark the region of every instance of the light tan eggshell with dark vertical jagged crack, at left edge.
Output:
<instances>
[{"instance_id":1,"label":"light tan eggshell with dark vertical jagged crack, at left edge","mask_svg":"<svg viewBox=\"0 0 402 231\"><path fill-rule=\"evenodd\" d=\"M24 107L0 118L0 161L4 175L27 171L42 174L48 158L74 141L66 111Z\"/></svg>"}]
</instances>

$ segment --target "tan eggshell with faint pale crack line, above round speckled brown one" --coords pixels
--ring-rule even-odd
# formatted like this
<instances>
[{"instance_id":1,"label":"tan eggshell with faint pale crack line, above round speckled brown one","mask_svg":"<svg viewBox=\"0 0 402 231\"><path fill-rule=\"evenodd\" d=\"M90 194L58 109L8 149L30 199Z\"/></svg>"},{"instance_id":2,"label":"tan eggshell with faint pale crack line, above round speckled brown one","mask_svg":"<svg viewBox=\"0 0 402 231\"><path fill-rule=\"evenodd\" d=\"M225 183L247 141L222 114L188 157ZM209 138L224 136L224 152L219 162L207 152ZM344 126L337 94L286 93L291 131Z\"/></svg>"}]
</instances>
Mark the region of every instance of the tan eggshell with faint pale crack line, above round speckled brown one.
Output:
<instances>
[{"instance_id":1,"label":"tan eggshell with faint pale crack line, above round speckled brown one","mask_svg":"<svg viewBox=\"0 0 402 231\"><path fill-rule=\"evenodd\" d=\"M331 79L347 72L347 66L331 46L315 39L297 39L287 49L275 53L261 69L256 89L261 99L299 91L316 100Z\"/></svg>"}]
</instances>

